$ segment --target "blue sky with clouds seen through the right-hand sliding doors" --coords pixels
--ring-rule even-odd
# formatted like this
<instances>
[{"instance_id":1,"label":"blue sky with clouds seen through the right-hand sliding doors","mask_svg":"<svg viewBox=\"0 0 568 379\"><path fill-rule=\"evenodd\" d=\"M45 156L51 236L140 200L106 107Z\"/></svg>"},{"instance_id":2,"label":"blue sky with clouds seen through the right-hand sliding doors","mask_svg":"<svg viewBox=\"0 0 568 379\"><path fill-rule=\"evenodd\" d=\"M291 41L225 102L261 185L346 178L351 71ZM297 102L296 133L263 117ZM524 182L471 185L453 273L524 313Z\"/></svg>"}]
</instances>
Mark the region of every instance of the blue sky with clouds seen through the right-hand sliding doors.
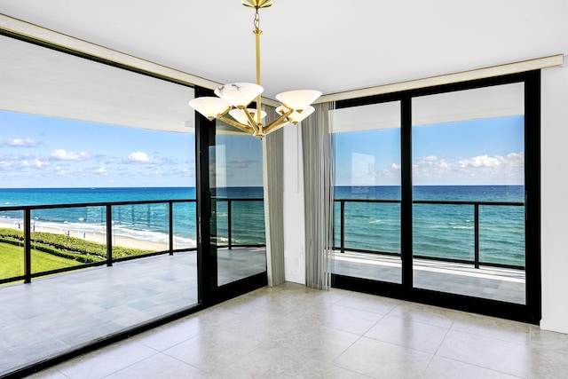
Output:
<instances>
[{"instance_id":1,"label":"blue sky with clouds seen through the right-hand sliding doors","mask_svg":"<svg viewBox=\"0 0 568 379\"><path fill-rule=\"evenodd\" d=\"M524 184L524 117L446 122L413 128L413 184ZM338 186L399 186L400 130L339 133Z\"/></svg>"}]
</instances>

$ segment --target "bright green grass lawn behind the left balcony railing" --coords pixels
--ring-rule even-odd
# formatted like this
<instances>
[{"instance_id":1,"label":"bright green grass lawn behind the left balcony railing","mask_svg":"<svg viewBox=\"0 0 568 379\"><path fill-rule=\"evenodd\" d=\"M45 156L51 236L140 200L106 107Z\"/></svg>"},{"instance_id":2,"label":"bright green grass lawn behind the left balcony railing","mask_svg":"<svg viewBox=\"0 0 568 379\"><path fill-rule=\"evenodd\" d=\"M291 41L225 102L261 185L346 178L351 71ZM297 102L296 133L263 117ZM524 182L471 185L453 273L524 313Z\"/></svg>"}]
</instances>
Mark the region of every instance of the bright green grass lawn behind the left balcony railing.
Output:
<instances>
[{"instance_id":1,"label":"bright green grass lawn behind the left balcony railing","mask_svg":"<svg viewBox=\"0 0 568 379\"><path fill-rule=\"evenodd\" d=\"M56 257L32 250L32 272L44 272L58 268L82 265L73 259ZM0 279L20 276L24 273L24 249L0 242Z\"/></svg>"}]
</instances>

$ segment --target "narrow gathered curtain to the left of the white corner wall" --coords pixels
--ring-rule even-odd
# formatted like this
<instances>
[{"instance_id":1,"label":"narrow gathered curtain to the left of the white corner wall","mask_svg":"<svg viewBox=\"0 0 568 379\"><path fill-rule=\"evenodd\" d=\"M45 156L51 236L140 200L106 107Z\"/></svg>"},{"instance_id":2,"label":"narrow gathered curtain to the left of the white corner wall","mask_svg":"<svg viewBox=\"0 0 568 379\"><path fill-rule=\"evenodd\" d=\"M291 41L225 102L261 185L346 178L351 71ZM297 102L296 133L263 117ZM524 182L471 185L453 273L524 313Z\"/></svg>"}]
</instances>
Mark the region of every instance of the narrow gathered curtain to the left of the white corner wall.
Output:
<instances>
[{"instance_id":1,"label":"narrow gathered curtain to the left of the white corner wall","mask_svg":"<svg viewBox=\"0 0 568 379\"><path fill-rule=\"evenodd\" d=\"M276 111L265 106L265 122L271 122ZM263 138L264 225L266 230L266 271L268 285L284 282L284 130L276 130Z\"/></svg>"}]
</instances>

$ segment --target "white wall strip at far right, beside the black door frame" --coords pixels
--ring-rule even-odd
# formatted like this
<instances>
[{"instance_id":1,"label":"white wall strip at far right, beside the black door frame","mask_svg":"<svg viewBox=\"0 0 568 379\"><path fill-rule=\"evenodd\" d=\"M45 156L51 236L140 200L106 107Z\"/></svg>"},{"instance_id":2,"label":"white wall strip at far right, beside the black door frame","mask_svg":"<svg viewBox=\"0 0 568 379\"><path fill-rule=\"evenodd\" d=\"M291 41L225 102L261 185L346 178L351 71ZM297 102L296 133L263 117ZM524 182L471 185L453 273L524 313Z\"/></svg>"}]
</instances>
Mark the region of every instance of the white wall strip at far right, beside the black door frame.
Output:
<instances>
[{"instance_id":1,"label":"white wall strip at far right, beside the black door frame","mask_svg":"<svg viewBox=\"0 0 568 379\"><path fill-rule=\"evenodd\" d=\"M568 333L568 67L542 70L541 93L540 327Z\"/></svg>"}]
</instances>

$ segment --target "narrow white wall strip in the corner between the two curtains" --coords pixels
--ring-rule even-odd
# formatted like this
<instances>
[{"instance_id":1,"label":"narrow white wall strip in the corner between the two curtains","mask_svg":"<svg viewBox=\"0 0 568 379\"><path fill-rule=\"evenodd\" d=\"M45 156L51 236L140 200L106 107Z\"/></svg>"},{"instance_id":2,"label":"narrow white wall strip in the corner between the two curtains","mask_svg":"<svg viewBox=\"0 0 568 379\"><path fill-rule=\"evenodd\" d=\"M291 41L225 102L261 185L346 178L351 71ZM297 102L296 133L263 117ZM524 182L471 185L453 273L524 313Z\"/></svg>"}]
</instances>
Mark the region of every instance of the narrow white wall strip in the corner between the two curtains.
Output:
<instances>
[{"instance_id":1,"label":"narrow white wall strip in the corner between the two curtains","mask_svg":"<svg viewBox=\"0 0 568 379\"><path fill-rule=\"evenodd\" d=\"M285 280L305 284L304 176L300 126L284 127Z\"/></svg>"}]
</instances>

